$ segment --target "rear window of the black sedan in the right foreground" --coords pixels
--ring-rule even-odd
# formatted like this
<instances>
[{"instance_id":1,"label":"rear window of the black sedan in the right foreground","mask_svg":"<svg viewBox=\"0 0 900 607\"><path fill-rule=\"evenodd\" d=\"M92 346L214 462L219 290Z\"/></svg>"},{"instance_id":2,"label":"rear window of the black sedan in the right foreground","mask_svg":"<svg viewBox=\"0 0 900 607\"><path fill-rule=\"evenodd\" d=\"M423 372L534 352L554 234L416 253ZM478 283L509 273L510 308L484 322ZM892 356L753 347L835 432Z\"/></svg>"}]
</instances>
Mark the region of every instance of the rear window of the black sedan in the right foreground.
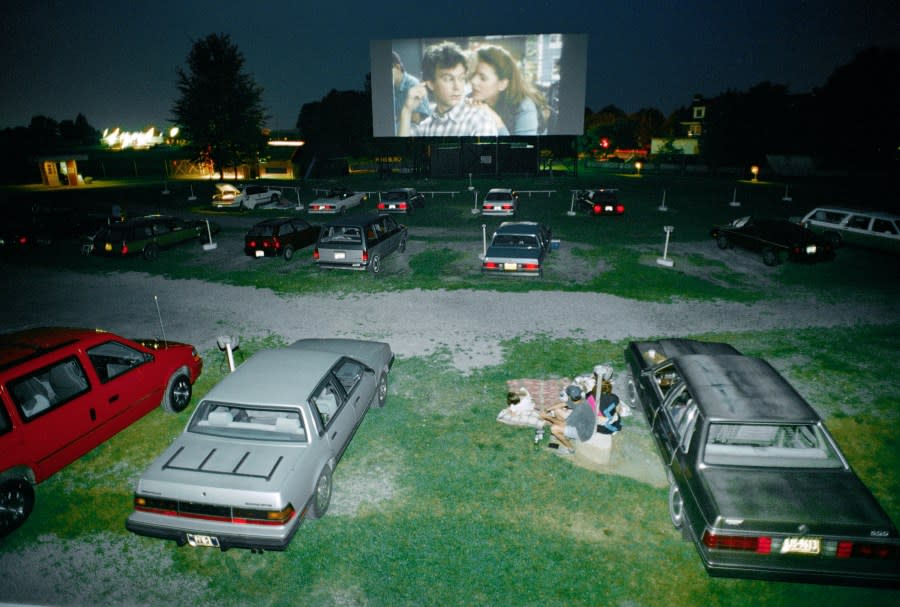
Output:
<instances>
[{"instance_id":1,"label":"rear window of the black sedan in the right foreground","mask_svg":"<svg viewBox=\"0 0 900 607\"><path fill-rule=\"evenodd\" d=\"M704 462L763 468L843 467L817 424L710 424Z\"/></svg>"}]
</instances>

